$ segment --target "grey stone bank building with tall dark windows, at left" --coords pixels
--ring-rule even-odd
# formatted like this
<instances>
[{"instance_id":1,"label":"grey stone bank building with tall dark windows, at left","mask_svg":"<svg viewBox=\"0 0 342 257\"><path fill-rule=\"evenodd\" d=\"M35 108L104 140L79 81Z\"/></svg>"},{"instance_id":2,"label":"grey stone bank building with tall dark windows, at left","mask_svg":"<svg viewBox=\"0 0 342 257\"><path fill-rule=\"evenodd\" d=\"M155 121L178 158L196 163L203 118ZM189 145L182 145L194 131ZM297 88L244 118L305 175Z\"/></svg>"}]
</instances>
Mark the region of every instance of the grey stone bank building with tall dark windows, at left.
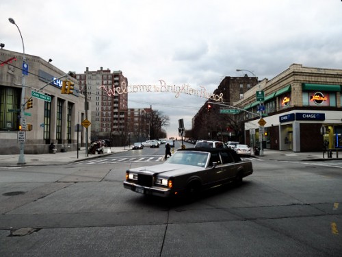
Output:
<instances>
[{"instance_id":1,"label":"grey stone bank building with tall dark windows, at left","mask_svg":"<svg viewBox=\"0 0 342 257\"><path fill-rule=\"evenodd\" d=\"M33 106L22 117L27 124L24 154L48 154L50 143L57 151L76 150L77 138L84 145L86 133L80 124L86 117L85 97L79 94L76 79L38 56L25 53L25 62L25 101L32 92L39 91L42 97L32 97ZM19 154L23 53L0 49L0 63L0 154ZM70 95L61 93L64 79L75 83Z\"/></svg>"}]
</instances>

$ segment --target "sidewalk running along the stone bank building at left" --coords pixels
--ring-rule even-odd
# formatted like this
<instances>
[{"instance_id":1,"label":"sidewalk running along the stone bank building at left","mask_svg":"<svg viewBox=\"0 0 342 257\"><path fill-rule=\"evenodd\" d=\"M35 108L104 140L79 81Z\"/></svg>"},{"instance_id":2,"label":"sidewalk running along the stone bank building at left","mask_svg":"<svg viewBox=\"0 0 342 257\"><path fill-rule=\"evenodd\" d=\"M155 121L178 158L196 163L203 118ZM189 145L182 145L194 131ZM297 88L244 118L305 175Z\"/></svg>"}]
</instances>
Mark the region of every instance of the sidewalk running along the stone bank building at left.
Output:
<instances>
[{"instance_id":1,"label":"sidewalk running along the stone bank building at left","mask_svg":"<svg viewBox=\"0 0 342 257\"><path fill-rule=\"evenodd\" d=\"M128 151L130 148L126 147L106 147L104 154L88 154L86 156L86 148L82 147L78 151L57 152L56 154L25 154L25 164L18 164L19 154L0 155L0 167L20 167L20 166L39 166L39 165L58 165L68 164L70 162L77 162L79 160L89 158L99 158L101 156L120 153Z\"/></svg>"}]
</instances>

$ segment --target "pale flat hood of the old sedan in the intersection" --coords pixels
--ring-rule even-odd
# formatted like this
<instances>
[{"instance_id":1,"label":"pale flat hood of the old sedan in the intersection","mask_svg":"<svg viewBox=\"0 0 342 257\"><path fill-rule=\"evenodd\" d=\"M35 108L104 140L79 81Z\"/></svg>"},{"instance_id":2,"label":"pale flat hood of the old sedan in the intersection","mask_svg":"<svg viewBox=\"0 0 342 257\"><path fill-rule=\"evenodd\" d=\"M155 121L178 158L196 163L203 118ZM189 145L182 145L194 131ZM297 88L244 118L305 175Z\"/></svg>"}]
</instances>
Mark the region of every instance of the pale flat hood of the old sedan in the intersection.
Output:
<instances>
[{"instance_id":1,"label":"pale flat hood of the old sedan in the intersection","mask_svg":"<svg viewBox=\"0 0 342 257\"><path fill-rule=\"evenodd\" d=\"M136 173L149 174L149 175L162 174L162 175L171 177L174 175L182 175L185 173L202 171L204 169L205 168L192 166L192 165L165 163L165 164L159 164L159 165L154 165L154 166L129 169L129 171L136 172Z\"/></svg>"}]
</instances>

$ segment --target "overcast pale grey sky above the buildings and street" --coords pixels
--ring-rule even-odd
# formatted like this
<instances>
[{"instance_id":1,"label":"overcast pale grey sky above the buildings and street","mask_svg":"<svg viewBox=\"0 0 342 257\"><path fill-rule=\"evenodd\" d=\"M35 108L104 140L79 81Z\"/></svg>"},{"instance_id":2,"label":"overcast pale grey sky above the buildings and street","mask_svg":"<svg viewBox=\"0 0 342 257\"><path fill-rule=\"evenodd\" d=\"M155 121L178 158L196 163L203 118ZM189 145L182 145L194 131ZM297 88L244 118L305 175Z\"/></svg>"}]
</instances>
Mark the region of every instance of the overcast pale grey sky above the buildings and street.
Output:
<instances>
[{"instance_id":1,"label":"overcast pale grey sky above the buildings and street","mask_svg":"<svg viewBox=\"0 0 342 257\"><path fill-rule=\"evenodd\" d=\"M0 3L5 49L53 60L65 71L122 71L129 85L205 88L252 71L272 79L291 64L342 69L340 0L8 0ZM249 74L250 75L250 74ZM185 129L206 99L131 93L129 108L170 117Z\"/></svg>"}]
</instances>

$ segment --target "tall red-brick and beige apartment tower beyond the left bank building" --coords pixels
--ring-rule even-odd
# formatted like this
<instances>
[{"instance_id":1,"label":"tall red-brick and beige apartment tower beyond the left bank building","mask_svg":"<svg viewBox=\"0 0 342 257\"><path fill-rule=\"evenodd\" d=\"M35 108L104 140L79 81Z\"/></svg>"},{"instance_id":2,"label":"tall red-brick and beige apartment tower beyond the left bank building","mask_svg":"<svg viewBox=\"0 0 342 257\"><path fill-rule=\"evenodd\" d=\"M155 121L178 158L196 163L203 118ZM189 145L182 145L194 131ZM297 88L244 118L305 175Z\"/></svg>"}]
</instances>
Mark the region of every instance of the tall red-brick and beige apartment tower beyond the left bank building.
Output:
<instances>
[{"instance_id":1,"label":"tall red-brick and beige apartment tower beyond the left bank building","mask_svg":"<svg viewBox=\"0 0 342 257\"><path fill-rule=\"evenodd\" d=\"M122 71L101 69L76 74L79 91L88 95L92 108L90 138L109 139L114 145L122 145L127 138L127 101L128 94L122 88L128 84Z\"/></svg>"}]
</instances>

